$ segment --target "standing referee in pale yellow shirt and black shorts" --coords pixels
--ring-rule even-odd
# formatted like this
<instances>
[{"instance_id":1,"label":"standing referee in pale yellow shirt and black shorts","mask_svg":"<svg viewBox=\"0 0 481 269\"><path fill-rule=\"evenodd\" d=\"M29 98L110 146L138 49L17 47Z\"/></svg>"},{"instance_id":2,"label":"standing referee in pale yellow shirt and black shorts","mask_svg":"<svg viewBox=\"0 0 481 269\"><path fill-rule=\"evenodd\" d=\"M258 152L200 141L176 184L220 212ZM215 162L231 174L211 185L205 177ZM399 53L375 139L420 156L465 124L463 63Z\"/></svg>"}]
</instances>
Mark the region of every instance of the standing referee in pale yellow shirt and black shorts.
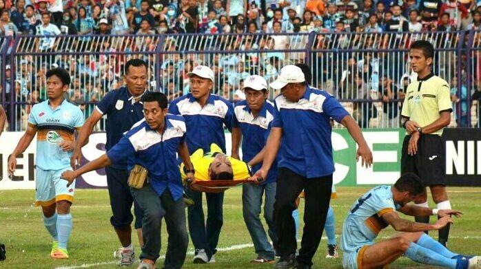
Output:
<instances>
[{"instance_id":1,"label":"standing referee in pale yellow shirt and black shorts","mask_svg":"<svg viewBox=\"0 0 481 269\"><path fill-rule=\"evenodd\" d=\"M416 173L429 186L438 209L451 209L444 178L444 150L442 130L451 121L451 98L446 80L431 73L434 48L427 41L411 45L411 68L418 81L408 85L402 105L402 127L407 136L402 142L401 173ZM424 191L416 201L428 207ZM416 217L416 222L429 223L428 217ZM449 224L439 230L439 242L446 246Z\"/></svg>"}]
</instances>

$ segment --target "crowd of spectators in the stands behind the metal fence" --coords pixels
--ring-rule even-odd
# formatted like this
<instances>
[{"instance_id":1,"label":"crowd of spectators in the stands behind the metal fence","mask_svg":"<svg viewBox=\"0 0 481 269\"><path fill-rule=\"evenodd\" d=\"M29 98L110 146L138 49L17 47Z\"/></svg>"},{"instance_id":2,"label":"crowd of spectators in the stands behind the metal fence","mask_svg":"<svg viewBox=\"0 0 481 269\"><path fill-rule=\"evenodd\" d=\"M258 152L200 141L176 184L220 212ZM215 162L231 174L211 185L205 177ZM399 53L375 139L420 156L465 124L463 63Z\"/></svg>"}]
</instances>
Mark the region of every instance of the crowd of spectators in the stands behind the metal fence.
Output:
<instances>
[{"instance_id":1,"label":"crowd of spectators in the stands behind the metal fence","mask_svg":"<svg viewBox=\"0 0 481 269\"><path fill-rule=\"evenodd\" d=\"M64 67L72 74L72 87L66 97L81 106L88 116L94 103L121 85L123 63L135 56L152 65L150 87L163 90L171 100L189 92L187 72L195 65L205 64L216 73L214 92L235 101L243 98L238 89L249 74L259 74L272 81L283 65L305 61L303 52L275 51L305 48L308 36L296 36L296 33L315 32L313 49L396 50L409 47L416 39L415 34L429 32L446 33L438 34L433 41L435 47L453 48L459 42L458 35L449 33L480 29L480 0L0 0L0 35L85 36L77 38L75 43L48 37L39 38L35 43L25 39L25 50L60 54L22 56L14 65L13 83L8 65L6 94L0 96L6 103L12 96L22 103L16 107L15 114L17 125L23 125L26 120L21 118L28 115L31 105L45 99L46 70ZM191 36L183 41L172 37L160 42L159 36L154 35L163 33L209 36ZM259 35L215 36L225 33ZM350 33L369 33L371 37L360 38ZM134 35L113 37L123 34ZM158 57L145 54L157 50L159 44L162 52L172 53ZM209 49L226 53L174 53ZM96 54L64 55L61 52ZM131 54L116 54L118 52ZM467 114L470 105L465 101L466 96L478 93L475 89L481 87L481 81L473 79L469 91L464 74L461 87L457 87L456 69L444 67L454 57L453 53L444 54L438 63L444 68L445 78L451 80L453 103L456 109L462 109L459 113L462 116ZM481 57L477 58L481 63ZM316 59L311 59L315 73L312 83L340 100L382 102L380 109L372 103L354 102L353 111L362 127L369 127L369 120L376 118L376 114L385 114L385 127L397 127L404 90L412 80L407 61L407 54L399 53L319 53ZM466 61L460 63L466 64ZM479 68L480 64L476 63ZM473 76L477 77L481 76ZM13 95L10 94L12 85ZM272 92L271 96L275 94ZM460 100L461 104L457 105ZM463 126L469 125L466 121L461 120Z\"/></svg>"}]
</instances>

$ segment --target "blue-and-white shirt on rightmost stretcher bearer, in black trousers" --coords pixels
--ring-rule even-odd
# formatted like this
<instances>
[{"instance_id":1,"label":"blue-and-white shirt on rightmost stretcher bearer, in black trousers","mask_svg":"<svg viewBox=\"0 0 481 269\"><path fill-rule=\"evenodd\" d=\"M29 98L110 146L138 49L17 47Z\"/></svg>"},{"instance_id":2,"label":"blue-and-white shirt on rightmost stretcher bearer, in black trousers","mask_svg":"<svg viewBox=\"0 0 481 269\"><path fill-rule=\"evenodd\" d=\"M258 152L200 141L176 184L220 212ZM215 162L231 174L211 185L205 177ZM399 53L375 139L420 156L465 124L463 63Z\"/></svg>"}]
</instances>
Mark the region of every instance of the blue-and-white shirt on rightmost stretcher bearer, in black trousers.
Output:
<instances>
[{"instance_id":1,"label":"blue-and-white shirt on rightmost stretcher bearer, in black trousers","mask_svg":"<svg viewBox=\"0 0 481 269\"><path fill-rule=\"evenodd\" d=\"M283 95L274 100L272 127L283 128L279 167L307 178L334 173L331 122L340 122L349 113L325 91L307 87L297 103Z\"/></svg>"}]
</instances>

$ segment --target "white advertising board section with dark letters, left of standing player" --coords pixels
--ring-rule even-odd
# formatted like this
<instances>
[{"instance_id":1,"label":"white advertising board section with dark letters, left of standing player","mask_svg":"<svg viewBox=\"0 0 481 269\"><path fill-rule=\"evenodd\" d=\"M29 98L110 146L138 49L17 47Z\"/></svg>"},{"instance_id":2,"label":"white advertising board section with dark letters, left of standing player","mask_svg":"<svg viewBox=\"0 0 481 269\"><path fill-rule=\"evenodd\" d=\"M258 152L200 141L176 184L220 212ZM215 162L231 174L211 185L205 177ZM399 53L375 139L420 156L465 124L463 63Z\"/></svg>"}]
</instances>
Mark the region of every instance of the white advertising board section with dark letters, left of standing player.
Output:
<instances>
[{"instance_id":1,"label":"white advertising board section with dark letters, left of standing player","mask_svg":"<svg viewBox=\"0 0 481 269\"><path fill-rule=\"evenodd\" d=\"M21 156L17 156L17 169L14 177L8 178L8 156L23 136L23 132L3 132L0 136L0 190L35 189L35 152L37 151L37 136Z\"/></svg>"}]
</instances>

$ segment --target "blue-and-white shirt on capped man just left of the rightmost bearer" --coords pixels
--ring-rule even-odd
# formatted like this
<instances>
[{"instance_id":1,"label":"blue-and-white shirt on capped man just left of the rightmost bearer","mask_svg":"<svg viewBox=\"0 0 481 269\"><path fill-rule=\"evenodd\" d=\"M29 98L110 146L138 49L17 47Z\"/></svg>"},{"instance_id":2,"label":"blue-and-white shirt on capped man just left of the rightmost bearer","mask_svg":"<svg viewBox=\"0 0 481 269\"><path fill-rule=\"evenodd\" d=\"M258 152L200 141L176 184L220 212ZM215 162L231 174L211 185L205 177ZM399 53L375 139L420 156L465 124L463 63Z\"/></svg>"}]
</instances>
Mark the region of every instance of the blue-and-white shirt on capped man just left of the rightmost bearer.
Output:
<instances>
[{"instance_id":1,"label":"blue-and-white shirt on capped man just left of the rightmost bearer","mask_svg":"<svg viewBox=\"0 0 481 269\"><path fill-rule=\"evenodd\" d=\"M241 129L243 136L242 160L244 162L252 160L264 148L272 127L272 120L274 120L274 104L269 100L265 101L256 118L252 115L246 100L236 103L232 126ZM255 173L261 166L262 163L254 165L252 172ZM264 184L275 182L276 177L277 160L274 160Z\"/></svg>"}]
</instances>

